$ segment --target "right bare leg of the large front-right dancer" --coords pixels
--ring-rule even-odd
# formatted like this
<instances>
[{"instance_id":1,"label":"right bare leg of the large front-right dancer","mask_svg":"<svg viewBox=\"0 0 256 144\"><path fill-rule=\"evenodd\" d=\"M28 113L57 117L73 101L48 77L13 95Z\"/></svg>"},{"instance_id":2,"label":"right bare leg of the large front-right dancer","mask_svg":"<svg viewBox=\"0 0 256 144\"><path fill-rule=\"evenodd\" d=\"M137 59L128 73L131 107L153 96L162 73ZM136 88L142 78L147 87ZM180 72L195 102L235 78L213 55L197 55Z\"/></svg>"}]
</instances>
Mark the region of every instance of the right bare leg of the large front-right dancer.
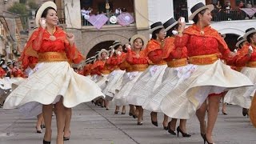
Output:
<instances>
[{"instance_id":1,"label":"right bare leg of the large front-right dancer","mask_svg":"<svg viewBox=\"0 0 256 144\"><path fill-rule=\"evenodd\" d=\"M206 127L206 138L208 142L213 143L212 132L214 130L214 125L218 117L218 108L219 108L219 101L221 98L220 95L210 96L209 98L209 111L208 111L208 121Z\"/></svg>"}]
</instances>

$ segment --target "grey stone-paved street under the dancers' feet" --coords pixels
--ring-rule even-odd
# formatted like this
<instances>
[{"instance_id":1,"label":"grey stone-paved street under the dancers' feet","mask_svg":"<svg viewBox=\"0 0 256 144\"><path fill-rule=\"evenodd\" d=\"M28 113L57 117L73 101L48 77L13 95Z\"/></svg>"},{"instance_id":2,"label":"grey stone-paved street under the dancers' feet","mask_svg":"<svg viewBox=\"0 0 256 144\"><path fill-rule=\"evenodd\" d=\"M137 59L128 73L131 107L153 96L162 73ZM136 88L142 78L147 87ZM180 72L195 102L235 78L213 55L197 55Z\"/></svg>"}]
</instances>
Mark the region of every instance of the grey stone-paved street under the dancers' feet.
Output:
<instances>
[{"instance_id":1,"label":"grey stone-paved street under the dancers' feet","mask_svg":"<svg viewBox=\"0 0 256 144\"><path fill-rule=\"evenodd\" d=\"M128 107L127 107L128 111ZM255 144L256 128L248 118L242 116L242 108L227 106L228 115L219 114L214 129L214 139L218 144ZM43 134L35 133L35 118L24 118L18 110L0 109L0 144L40 144ZM105 110L90 103L74 108L71 123L71 137L66 144L164 144L203 143L198 120L194 116L187 123L191 138L168 134L162 129L162 114L158 114L158 127L150 123L150 112L144 114L142 126L136 119L114 114L114 106ZM53 118L53 139L56 137L56 121Z\"/></svg>"}]
</instances>

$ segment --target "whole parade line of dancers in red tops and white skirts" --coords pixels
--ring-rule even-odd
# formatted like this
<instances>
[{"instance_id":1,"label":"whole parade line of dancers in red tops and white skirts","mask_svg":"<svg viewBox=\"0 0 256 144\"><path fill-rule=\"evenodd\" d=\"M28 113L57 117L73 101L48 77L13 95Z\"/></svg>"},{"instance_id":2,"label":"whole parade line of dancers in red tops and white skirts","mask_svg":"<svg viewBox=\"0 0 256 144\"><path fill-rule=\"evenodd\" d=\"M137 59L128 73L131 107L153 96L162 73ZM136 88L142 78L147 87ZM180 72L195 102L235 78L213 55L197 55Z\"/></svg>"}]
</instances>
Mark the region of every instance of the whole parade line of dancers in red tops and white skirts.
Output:
<instances>
[{"instance_id":1,"label":"whole parade line of dancers in red tops and white skirts","mask_svg":"<svg viewBox=\"0 0 256 144\"><path fill-rule=\"evenodd\" d=\"M154 126L158 126L158 113L163 113L163 129L182 137L191 137L186 121L196 114L203 142L214 143L212 132L224 97L224 102L242 106L242 113L256 126L256 30L248 28L232 52L210 27L213 9L199 2L191 8L193 25L186 27L183 18L155 22L150 40L135 34L127 43L116 41L76 70L71 65L84 58L74 44L74 34L58 26L54 2L45 2L36 14L38 29L20 58L28 78L11 82L14 90L3 108L38 115L37 132L46 128L44 144L51 141L53 111L56 142L62 144L70 139L71 108L83 102L106 110L113 102L114 114L126 114L129 106L129 115L138 119L138 125L143 125L144 110L151 111Z\"/></svg>"}]
</instances>

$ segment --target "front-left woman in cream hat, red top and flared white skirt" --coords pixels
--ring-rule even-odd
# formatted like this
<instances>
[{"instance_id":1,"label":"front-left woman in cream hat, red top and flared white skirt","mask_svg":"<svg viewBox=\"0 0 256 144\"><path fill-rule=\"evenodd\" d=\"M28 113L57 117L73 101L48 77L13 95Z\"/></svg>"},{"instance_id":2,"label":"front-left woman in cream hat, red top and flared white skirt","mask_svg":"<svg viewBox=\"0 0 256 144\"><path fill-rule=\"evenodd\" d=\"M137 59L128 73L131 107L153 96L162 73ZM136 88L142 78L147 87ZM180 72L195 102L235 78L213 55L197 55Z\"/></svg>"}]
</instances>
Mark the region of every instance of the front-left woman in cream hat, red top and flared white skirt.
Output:
<instances>
[{"instance_id":1,"label":"front-left woman in cream hat, red top and flared white skirt","mask_svg":"<svg viewBox=\"0 0 256 144\"><path fill-rule=\"evenodd\" d=\"M56 112L58 135L56 142L63 143L65 107L71 108L82 102L90 102L102 96L100 88L89 78L76 74L70 62L80 62L82 55L74 45L74 34L66 34L58 28L57 6L54 2L45 2L38 9L35 22L39 27L26 44L23 66L27 66L30 57L42 63L40 69L22 82L6 98L5 109L14 109L31 102L42 105L46 133L44 144L51 141L51 120L53 105ZM31 110L33 111L33 110Z\"/></svg>"}]
</instances>

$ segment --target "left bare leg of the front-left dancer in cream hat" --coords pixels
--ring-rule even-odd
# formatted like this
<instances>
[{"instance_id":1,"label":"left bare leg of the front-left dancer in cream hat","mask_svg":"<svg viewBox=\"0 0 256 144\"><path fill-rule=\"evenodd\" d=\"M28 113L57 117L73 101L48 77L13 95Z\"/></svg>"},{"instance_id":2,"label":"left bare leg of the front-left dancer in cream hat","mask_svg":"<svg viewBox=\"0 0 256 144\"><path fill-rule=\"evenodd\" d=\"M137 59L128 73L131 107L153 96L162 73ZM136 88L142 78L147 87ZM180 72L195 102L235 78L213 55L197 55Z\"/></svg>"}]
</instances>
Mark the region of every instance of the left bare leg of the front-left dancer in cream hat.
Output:
<instances>
[{"instance_id":1,"label":"left bare leg of the front-left dancer in cream hat","mask_svg":"<svg viewBox=\"0 0 256 144\"><path fill-rule=\"evenodd\" d=\"M53 105L43 105L42 106L42 115L45 120L46 133L44 135L44 140L50 142L51 140L51 118L53 114Z\"/></svg>"}]
</instances>

